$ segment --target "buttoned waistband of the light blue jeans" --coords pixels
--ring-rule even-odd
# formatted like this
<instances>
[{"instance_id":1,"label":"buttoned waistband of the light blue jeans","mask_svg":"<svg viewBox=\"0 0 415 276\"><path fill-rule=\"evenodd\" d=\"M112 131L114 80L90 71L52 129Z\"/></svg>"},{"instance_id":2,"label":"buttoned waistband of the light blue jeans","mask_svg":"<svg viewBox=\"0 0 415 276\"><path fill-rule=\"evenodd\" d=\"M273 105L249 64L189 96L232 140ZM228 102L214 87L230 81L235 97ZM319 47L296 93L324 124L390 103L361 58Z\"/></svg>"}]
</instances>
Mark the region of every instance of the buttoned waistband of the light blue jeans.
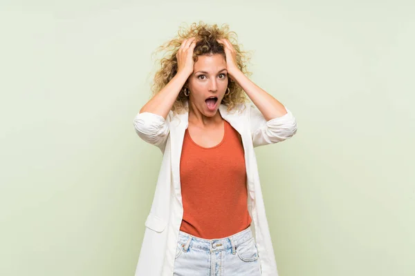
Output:
<instances>
[{"instance_id":1,"label":"buttoned waistband of the light blue jeans","mask_svg":"<svg viewBox=\"0 0 415 276\"><path fill-rule=\"evenodd\" d=\"M181 244L185 251L187 251L189 247L199 248L210 252L232 248L233 253L239 244L252 238L253 235L250 227L232 236L223 237L221 239L202 239L201 237L194 237L180 230L178 233L178 243Z\"/></svg>"}]
</instances>

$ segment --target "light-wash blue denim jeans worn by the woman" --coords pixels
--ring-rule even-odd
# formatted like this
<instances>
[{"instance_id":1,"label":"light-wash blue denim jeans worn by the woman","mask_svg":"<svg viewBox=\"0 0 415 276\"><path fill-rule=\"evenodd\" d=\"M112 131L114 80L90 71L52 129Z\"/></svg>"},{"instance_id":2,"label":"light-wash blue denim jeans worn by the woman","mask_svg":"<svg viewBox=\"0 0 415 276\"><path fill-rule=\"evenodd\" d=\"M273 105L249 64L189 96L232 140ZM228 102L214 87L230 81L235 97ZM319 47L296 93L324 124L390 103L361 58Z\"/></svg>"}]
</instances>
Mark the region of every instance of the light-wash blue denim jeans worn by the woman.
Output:
<instances>
[{"instance_id":1,"label":"light-wash blue denim jeans worn by the woman","mask_svg":"<svg viewBox=\"0 0 415 276\"><path fill-rule=\"evenodd\" d=\"M175 276L260 276L257 244L250 227L222 239L178 234Z\"/></svg>"}]
</instances>

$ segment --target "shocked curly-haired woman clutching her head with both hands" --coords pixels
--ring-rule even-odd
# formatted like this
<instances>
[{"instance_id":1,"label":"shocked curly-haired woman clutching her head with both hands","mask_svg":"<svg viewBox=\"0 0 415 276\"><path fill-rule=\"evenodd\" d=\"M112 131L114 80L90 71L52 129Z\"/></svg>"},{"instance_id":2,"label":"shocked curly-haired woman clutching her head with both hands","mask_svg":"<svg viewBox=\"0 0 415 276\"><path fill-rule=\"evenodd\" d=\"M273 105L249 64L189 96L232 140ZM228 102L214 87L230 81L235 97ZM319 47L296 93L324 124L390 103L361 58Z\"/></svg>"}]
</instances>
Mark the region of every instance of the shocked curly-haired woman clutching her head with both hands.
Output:
<instances>
[{"instance_id":1,"label":"shocked curly-haired woman clutching her head with both hands","mask_svg":"<svg viewBox=\"0 0 415 276\"><path fill-rule=\"evenodd\" d=\"M232 34L193 23L161 47L172 54L134 119L163 152L136 276L277 275L254 147L292 137L297 124L246 77Z\"/></svg>"}]
</instances>

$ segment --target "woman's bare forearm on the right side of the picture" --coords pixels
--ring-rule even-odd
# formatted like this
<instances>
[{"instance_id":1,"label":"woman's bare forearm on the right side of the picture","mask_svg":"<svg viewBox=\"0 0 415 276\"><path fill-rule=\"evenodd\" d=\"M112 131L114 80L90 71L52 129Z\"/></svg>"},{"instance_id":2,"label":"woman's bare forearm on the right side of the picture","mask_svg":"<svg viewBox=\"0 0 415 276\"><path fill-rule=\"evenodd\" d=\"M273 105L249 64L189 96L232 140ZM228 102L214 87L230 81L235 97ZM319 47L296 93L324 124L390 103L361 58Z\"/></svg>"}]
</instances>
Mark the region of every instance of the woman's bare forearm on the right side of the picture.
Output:
<instances>
[{"instance_id":1,"label":"woman's bare forearm on the right side of the picture","mask_svg":"<svg viewBox=\"0 0 415 276\"><path fill-rule=\"evenodd\" d=\"M267 121L287 114L286 108L282 103L268 94L268 92L259 88L240 70L232 74L232 79L241 86Z\"/></svg>"}]
</instances>

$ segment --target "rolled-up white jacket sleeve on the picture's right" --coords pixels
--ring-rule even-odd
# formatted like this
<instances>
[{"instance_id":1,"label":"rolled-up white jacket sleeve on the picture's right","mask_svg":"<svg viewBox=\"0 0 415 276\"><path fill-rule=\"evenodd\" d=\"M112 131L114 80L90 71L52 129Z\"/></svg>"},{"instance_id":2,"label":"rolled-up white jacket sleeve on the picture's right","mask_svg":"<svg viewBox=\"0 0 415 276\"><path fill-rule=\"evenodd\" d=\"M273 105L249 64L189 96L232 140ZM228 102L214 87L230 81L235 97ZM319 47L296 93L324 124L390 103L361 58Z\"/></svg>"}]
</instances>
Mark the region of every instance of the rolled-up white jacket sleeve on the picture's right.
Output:
<instances>
[{"instance_id":1,"label":"rolled-up white jacket sleeve on the picture's right","mask_svg":"<svg viewBox=\"0 0 415 276\"><path fill-rule=\"evenodd\" d=\"M286 108L286 107L285 107ZM297 121L286 108L286 115L266 121L261 111L250 104L250 130L254 147L275 144L293 137L297 132Z\"/></svg>"}]
</instances>

